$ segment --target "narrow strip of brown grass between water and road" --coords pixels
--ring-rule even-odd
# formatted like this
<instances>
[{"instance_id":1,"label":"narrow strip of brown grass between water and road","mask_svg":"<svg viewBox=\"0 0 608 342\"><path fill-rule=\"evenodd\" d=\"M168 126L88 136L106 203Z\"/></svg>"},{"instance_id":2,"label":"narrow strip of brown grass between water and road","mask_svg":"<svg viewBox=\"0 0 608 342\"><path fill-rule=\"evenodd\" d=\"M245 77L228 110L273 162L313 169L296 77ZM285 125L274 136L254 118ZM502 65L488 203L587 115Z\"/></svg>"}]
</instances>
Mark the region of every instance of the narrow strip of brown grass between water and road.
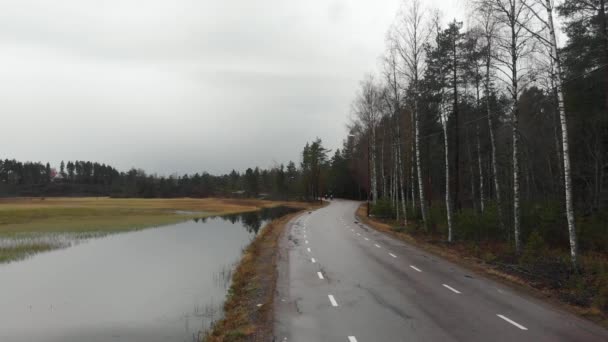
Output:
<instances>
[{"instance_id":1,"label":"narrow strip of brown grass between water and road","mask_svg":"<svg viewBox=\"0 0 608 342\"><path fill-rule=\"evenodd\" d=\"M296 215L270 222L245 250L232 277L224 318L214 324L204 341L272 339L278 244L285 225Z\"/></svg>"}]
</instances>

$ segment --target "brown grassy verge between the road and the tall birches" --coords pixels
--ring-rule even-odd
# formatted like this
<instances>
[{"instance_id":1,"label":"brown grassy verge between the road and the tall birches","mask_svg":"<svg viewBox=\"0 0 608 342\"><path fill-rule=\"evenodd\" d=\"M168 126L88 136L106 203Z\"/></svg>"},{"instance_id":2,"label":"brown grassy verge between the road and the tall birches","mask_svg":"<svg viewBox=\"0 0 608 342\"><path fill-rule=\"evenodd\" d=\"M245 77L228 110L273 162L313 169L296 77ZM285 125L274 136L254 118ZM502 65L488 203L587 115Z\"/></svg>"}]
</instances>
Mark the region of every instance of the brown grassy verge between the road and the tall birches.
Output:
<instances>
[{"instance_id":1,"label":"brown grassy verge between the road and the tall birches","mask_svg":"<svg viewBox=\"0 0 608 342\"><path fill-rule=\"evenodd\" d=\"M580 270L572 272L567 251L550 249L536 238L529 239L517 256L505 242L457 240L448 244L441 229L424 232L416 222L404 228L393 220L368 218L365 206L358 209L357 217L376 230L608 327L606 255L581 254Z\"/></svg>"}]
</instances>

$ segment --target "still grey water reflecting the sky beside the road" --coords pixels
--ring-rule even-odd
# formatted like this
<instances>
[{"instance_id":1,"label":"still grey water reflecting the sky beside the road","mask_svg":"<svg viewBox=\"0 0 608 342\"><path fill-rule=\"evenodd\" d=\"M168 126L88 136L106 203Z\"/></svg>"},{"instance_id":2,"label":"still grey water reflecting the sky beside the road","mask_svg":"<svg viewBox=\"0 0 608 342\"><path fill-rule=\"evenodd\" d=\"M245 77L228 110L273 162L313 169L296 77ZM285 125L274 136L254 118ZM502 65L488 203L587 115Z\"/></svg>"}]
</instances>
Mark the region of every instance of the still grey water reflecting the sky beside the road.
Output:
<instances>
[{"instance_id":1,"label":"still grey water reflecting the sky beside the road","mask_svg":"<svg viewBox=\"0 0 608 342\"><path fill-rule=\"evenodd\" d=\"M193 220L0 265L0 341L193 341L221 317L232 267L268 220Z\"/></svg>"}]
</instances>

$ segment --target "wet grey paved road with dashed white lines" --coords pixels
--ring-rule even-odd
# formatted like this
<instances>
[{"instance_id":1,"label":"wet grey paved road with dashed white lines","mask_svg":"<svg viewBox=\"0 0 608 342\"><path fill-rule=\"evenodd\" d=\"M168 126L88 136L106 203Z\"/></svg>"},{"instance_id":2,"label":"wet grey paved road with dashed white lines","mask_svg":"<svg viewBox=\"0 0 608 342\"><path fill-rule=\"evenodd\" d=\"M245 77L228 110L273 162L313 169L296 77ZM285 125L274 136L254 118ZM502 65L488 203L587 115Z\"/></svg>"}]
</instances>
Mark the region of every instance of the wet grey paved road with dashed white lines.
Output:
<instances>
[{"instance_id":1,"label":"wet grey paved road with dashed white lines","mask_svg":"<svg viewBox=\"0 0 608 342\"><path fill-rule=\"evenodd\" d=\"M276 341L608 341L608 331L355 223L336 200L281 242Z\"/></svg>"}]
</instances>

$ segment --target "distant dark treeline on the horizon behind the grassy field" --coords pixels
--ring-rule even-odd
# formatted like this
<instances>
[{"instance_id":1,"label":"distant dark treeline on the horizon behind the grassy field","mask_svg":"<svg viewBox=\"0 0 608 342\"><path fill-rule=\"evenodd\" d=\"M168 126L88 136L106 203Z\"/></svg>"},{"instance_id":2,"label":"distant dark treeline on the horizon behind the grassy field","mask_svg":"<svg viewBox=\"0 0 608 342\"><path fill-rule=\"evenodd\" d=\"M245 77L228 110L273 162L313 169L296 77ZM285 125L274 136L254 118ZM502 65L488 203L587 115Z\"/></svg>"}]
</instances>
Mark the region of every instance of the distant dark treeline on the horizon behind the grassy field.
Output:
<instances>
[{"instance_id":1,"label":"distant dark treeline on the horizon behind the grassy field","mask_svg":"<svg viewBox=\"0 0 608 342\"><path fill-rule=\"evenodd\" d=\"M248 168L224 175L207 172L158 176L142 169L119 172L90 161L49 163L0 160L0 196L113 197L264 197L305 199L302 171L296 164Z\"/></svg>"}]
</instances>

